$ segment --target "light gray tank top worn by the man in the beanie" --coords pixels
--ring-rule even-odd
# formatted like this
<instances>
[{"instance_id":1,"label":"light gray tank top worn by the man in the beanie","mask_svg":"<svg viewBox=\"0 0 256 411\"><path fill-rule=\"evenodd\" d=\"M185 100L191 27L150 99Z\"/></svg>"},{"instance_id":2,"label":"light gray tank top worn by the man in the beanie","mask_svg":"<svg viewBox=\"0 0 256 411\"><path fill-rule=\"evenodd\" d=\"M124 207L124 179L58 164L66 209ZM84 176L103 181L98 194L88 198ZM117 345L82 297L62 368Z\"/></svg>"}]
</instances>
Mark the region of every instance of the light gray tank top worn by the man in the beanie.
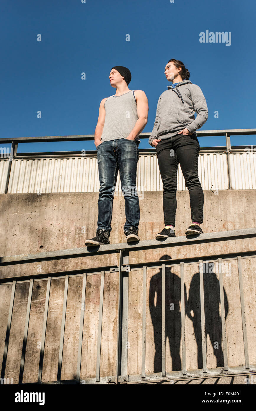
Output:
<instances>
[{"instance_id":1,"label":"light gray tank top worn by the man in the beanie","mask_svg":"<svg viewBox=\"0 0 256 411\"><path fill-rule=\"evenodd\" d=\"M138 120L134 91L117 97L110 96L105 101L106 115L101 141L126 139L132 131ZM139 136L135 141L140 141Z\"/></svg>"}]
</instances>

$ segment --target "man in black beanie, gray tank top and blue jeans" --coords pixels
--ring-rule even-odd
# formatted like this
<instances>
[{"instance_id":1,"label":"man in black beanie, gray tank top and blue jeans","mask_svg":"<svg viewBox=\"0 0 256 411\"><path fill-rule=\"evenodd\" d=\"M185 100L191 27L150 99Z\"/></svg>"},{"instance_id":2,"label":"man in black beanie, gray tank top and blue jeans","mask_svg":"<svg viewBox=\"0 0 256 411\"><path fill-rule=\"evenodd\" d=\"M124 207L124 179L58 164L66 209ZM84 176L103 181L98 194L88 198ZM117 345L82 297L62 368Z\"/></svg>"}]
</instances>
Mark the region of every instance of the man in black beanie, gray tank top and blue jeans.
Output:
<instances>
[{"instance_id":1,"label":"man in black beanie, gray tank top and blue jeans","mask_svg":"<svg viewBox=\"0 0 256 411\"><path fill-rule=\"evenodd\" d=\"M100 193L96 236L85 241L86 246L109 244L114 192L119 171L125 200L126 241L139 240L139 198L136 189L139 134L147 123L149 105L142 90L129 90L130 70L112 67L110 85L115 95L101 101L94 133L97 150Z\"/></svg>"}]
</instances>

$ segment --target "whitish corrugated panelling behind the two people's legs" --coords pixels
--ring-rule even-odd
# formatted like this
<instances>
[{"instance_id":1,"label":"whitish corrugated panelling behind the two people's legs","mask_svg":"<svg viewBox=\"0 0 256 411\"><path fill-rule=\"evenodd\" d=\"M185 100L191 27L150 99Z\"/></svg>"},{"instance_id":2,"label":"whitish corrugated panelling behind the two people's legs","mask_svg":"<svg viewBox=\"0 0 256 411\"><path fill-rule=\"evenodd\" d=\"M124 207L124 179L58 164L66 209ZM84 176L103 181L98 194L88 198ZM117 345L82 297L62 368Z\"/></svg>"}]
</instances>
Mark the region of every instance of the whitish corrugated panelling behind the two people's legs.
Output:
<instances>
[{"instance_id":1,"label":"whitish corrugated panelling behind the two people's legs","mask_svg":"<svg viewBox=\"0 0 256 411\"><path fill-rule=\"evenodd\" d=\"M230 154L231 184L233 189L256 189L256 153ZM4 192L7 161L0 161L0 187ZM204 190L229 188L227 155L222 153L199 155L198 175ZM178 166L177 189L187 190ZM68 193L98 192L98 164L96 157L64 159L13 160L8 193ZM162 179L156 155L139 157L137 190L162 191ZM116 192L121 192L118 175Z\"/></svg>"}]
</instances>

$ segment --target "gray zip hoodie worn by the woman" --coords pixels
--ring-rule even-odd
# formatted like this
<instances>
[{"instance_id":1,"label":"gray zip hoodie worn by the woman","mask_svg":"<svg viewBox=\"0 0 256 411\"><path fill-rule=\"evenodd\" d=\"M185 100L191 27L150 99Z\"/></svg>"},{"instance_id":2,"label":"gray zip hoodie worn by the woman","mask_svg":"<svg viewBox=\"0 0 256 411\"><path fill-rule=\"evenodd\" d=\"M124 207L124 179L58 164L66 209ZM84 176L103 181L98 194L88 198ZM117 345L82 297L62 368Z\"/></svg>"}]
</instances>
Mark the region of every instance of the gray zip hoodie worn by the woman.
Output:
<instances>
[{"instance_id":1,"label":"gray zip hoodie worn by the woman","mask_svg":"<svg viewBox=\"0 0 256 411\"><path fill-rule=\"evenodd\" d=\"M175 88L171 85L167 88L158 99L154 127L149 137L150 145L154 139L164 140L176 136L185 127L194 133L208 119L206 99L198 85L183 80ZM194 113L197 113L196 119ZM163 135L166 133L168 136Z\"/></svg>"}]
</instances>

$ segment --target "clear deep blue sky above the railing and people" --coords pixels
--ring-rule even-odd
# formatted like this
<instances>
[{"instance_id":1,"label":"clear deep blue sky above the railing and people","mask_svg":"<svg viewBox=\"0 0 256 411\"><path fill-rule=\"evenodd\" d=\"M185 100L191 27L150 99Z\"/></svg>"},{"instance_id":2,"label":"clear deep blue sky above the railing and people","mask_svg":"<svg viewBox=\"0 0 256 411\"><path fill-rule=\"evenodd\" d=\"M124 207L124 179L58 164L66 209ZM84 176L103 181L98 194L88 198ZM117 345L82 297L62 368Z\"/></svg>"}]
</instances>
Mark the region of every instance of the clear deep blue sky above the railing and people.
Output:
<instances>
[{"instance_id":1,"label":"clear deep blue sky above the railing and people","mask_svg":"<svg viewBox=\"0 0 256 411\"><path fill-rule=\"evenodd\" d=\"M94 134L101 99L115 93L108 79L115 65L130 69L130 90L145 91L143 132L151 133L158 98L170 84L164 75L170 58L184 62L206 97L209 117L201 130L255 128L255 15L251 0L1 0L0 137ZM206 30L231 32L231 45L200 43ZM231 144L255 140L237 136ZM199 143L225 145L225 139ZM140 148L151 146L142 140ZM95 145L30 143L18 152L82 149Z\"/></svg>"}]
</instances>

